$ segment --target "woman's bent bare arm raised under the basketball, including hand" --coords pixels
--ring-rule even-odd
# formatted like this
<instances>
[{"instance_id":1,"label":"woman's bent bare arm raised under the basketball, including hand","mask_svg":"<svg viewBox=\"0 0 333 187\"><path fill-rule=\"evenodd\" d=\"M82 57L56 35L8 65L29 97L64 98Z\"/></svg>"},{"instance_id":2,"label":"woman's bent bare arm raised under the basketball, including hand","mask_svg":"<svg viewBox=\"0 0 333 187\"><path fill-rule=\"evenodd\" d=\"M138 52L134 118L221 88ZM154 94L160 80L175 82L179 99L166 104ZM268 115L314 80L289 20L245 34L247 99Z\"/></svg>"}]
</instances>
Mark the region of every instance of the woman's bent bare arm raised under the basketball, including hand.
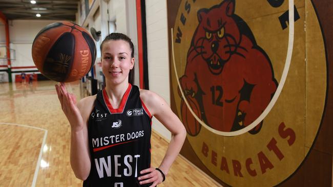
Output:
<instances>
[{"instance_id":1,"label":"woman's bent bare arm raised under the basketball, including hand","mask_svg":"<svg viewBox=\"0 0 333 187\"><path fill-rule=\"evenodd\" d=\"M95 97L84 98L76 105L75 96L67 92L65 84L55 87L61 108L71 125L71 167L78 179L86 180L91 166L87 124Z\"/></svg>"}]
</instances>

